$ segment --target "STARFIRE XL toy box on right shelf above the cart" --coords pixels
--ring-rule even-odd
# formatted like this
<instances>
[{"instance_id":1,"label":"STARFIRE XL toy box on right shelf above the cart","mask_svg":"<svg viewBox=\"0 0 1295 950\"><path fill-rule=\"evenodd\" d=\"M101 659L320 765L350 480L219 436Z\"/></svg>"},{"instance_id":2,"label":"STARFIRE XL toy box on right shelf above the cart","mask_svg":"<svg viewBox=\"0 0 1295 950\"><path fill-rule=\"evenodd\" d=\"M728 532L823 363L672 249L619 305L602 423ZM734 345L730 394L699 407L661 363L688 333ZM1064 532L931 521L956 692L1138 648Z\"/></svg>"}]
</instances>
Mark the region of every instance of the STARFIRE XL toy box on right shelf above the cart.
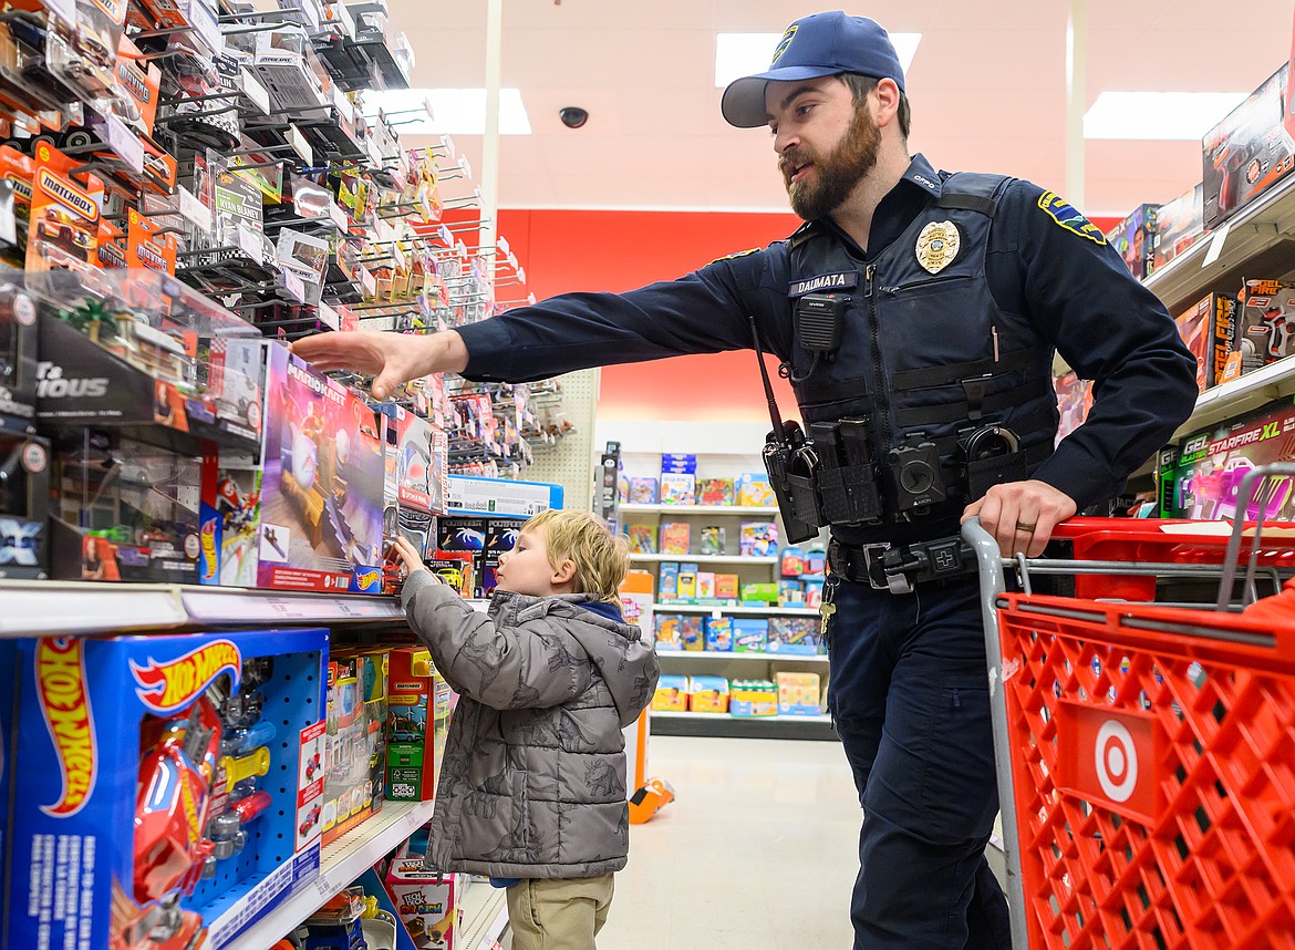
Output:
<instances>
[{"instance_id":1,"label":"STARFIRE XL toy box on right shelf above the cart","mask_svg":"<svg viewBox=\"0 0 1295 950\"><path fill-rule=\"evenodd\" d=\"M1167 458L1166 458L1167 456ZM1295 406L1269 404L1243 419L1186 437L1162 455L1162 517L1265 521L1295 516L1291 478L1269 478L1243 512L1241 480L1255 468L1295 461Z\"/></svg>"}]
</instances>

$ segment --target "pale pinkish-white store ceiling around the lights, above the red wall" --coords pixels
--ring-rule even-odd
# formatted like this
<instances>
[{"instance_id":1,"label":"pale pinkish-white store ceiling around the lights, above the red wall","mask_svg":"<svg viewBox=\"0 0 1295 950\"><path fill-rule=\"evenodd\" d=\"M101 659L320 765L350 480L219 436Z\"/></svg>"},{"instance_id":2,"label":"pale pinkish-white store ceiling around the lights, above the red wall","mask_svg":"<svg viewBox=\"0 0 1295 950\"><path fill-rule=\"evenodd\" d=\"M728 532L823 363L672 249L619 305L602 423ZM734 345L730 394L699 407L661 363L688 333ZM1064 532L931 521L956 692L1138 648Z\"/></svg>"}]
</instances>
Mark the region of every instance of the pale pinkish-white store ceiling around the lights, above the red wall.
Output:
<instances>
[{"instance_id":1,"label":"pale pinkish-white store ceiling around the lights, above the red wall","mask_svg":"<svg viewBox=\"0 0 1295 950\"><path fill-rule=\"evenodd\" d=\"M484 84L484 0L388 1L414 48L413 86ZM720 118L715 32L781 32L833 6L504 0L502 86L522 91L534 135L501 140L500 206L786 210L768 132ZM1290 0L1088 0L1087 10L1089 105L1106 89L1254 89L1291 48ZM873 0L848 12L922 34L908 74L910 149L936 167L1066 192L1067 0ZM569 105L589 111L583 128L558 119ZM455 136L478 180L480 143ZM1089 141L1084 159L1084 197L1068 197L1094 216L1200 180L1190 141Z\"/></svg>"}]
</instances>

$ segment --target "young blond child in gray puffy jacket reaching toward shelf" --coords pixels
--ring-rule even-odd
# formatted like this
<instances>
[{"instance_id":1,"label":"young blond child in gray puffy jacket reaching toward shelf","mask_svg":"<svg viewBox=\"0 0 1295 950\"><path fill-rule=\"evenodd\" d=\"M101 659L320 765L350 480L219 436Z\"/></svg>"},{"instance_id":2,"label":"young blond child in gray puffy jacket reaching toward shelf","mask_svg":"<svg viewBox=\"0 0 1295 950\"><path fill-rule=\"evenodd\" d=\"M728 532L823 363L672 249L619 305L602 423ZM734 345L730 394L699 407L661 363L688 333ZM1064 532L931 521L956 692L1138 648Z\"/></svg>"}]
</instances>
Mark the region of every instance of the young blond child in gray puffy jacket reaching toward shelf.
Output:
<instances>
[{"instance_id":1,"label":"young blond child in gray puffy jacket reaching toward shelf","mask_svg":"<svg viewBox=\"0 0 1295 950\"><path fill-rule=\"evenodd\" d=\"M625 546L592 515L536 515L500 557L486 614L438 583L412 544L396 551L409 626L460 693L430 861L508 886L513 950L593 950L629 850L620 730L659 673L620 616Z\"/></svg>"}]
</instances>

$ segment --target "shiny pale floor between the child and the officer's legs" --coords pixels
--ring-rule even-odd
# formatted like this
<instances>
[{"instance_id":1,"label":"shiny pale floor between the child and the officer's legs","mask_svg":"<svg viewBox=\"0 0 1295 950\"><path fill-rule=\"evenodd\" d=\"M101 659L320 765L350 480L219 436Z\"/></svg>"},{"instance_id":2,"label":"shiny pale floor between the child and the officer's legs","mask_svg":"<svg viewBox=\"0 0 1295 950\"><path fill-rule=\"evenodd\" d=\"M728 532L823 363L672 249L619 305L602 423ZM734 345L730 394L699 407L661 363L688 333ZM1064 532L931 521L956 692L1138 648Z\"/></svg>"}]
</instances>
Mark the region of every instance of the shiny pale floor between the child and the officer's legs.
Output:
<instances>
[{"instance_id":1,"label":"shiny pale floor between the child and the officer's legs","mask_svg":"<svg viewBox=\"0 0 1295 950\"><path fill-rule=\"evenodd\" d=\"M655 736L675 801L632 826L598 950L850 947L860 809L837 743Z\"/></svg>"}]
</instances>

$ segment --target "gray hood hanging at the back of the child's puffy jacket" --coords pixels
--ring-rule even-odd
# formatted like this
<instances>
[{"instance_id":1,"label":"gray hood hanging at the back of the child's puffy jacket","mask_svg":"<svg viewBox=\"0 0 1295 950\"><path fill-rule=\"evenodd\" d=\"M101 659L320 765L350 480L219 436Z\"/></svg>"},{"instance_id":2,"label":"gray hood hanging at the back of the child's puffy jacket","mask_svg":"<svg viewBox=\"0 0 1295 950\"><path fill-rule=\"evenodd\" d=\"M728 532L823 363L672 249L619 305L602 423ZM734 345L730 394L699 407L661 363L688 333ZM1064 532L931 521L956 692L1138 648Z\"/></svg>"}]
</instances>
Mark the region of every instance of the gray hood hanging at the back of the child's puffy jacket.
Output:
<instances>
[{"instance_id":1,"label":"gray hood hanging at the back of the child's puffy jacket","mask_svg":"<svg viewBox=\"0 0 1295 950\"><path fill-rule=\"evenodd\" d=\"M558 594L532 597L513 591L496 591L490 616L496 623L521 625L540 617L561 617L571 636L602 674L625 727L651 702L660 666L651 644L633 623L624 623L588 610L580 604L593 600L585 594Z\"/></svg>"}]
</instances>

